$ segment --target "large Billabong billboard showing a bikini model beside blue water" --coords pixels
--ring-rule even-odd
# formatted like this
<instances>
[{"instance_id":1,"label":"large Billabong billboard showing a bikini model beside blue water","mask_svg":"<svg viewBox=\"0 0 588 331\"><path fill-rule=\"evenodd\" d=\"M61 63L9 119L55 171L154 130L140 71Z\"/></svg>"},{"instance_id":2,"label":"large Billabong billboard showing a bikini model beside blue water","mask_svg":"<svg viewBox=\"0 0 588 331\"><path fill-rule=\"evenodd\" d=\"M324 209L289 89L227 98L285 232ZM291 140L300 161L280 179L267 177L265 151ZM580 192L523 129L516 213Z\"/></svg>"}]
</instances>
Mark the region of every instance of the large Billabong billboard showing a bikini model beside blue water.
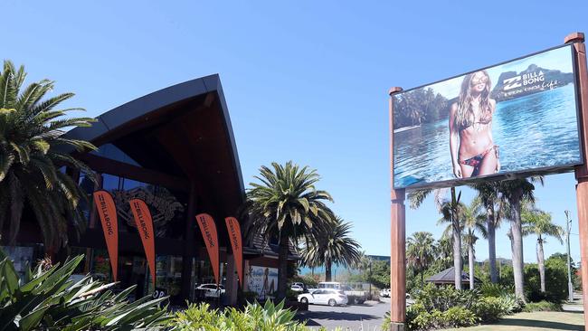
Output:
<instances>
[{"instance_id":1,"label":"large Billabong billboard showing a bikini model beside blue water","mask_svg":"<svg viewBox=\"0 0 588 331\"><path fill-rule=\"evenodd\" d=\"M394 94L394 188L582 164L574 70L564 45Z\"/></svg>"}]
</instances>

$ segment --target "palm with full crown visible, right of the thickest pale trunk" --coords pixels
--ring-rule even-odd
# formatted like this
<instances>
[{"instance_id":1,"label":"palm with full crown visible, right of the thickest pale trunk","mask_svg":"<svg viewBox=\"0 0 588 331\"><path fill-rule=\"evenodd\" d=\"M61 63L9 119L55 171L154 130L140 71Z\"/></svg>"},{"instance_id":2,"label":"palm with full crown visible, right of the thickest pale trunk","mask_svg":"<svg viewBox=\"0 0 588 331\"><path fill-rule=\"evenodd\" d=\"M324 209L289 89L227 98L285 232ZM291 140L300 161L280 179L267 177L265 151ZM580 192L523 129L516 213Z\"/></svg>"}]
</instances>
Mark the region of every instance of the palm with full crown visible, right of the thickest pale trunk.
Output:
<instances>
[{"instance_id":1,"label":"palm with full crown visible, right of the thickest pale trunk","mask_svg":"<svg viewBox=\"0 0 588 331\"><path fill-rule=\"evenodd\" d=\"M551 214L537 209L523 211L523 235L536 234L537 236L537 267L539 269L539 278L541 279L541 291L545 292L545 254L543 244L546 236L552 236L560 243L564 228L551 222Z\"/></svg>"}]
</instances>

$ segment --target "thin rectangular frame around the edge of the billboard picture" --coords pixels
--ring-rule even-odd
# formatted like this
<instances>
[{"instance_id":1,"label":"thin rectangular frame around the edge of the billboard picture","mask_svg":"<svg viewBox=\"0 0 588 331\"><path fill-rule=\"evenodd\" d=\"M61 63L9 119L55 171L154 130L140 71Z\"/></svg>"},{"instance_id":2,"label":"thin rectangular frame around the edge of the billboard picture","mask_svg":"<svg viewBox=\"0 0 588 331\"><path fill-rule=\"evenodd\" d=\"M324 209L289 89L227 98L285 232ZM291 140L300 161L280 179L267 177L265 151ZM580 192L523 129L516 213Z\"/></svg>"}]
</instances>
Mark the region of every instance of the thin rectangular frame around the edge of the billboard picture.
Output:
<instances>
[{"instance_id":1,"label":"thin rectangular frame around the edge of the billboard picture","mask_svg":"<svg viewBox=\"0 0 588 331\"><path fill-rule=\"evenodd\" d=\"M571 56L572 56L572 74L574 75L574 100L575 100L575 115L576 115L576 130L578 132L578 140L579 140L579 153L580 153L580 161L579 162L572 162L572 163L566 163L566 164L562 164L562 165L549 165L549 166L542 166L542 167L536 167L533 169L526 169L526 170L517 170L517 171L512 171L512 172L508 172L508 173L503 173L503 174L491 174L491 175L477 175L475 177L469 177L469 178L452 178L452 179L446 179L446 180L441 180L441 181L436 181L433 183L417 183L417 184L411 184L408 186L396 186L394 184L394 160L393 161L393 166L392 166L392 186L394 189L406 189L408 191L413 191L413 190L418 190L418 189L429 189L429 188L445 188L445 187L450 187L450 186L461 186L461 185L467 185L467 184L475 184L475 183L479 183L479 182L484 182L486 180L488 180L488 178L490 178L492 181L501 181L501 180L505 180L505 179L513 179L513 178L523 178L523 177L528 177L528 176L532 176L532 175L554 175L554 174L563 174L563 173L568 173L568 172L573 172L574 171L574 166L576 165L582 165L583 162L585 162L585 158L584 158L584 148L583 148L583 139L582 139L582 135L581 135L581 122L580 122L580 97L579 97L579 93L578 93L578 82L577 77L578 77L578 63L577 63L577 59L575 56L575 51L574 51L574 45L571 43L564 43L561 45L557 45L554 47L550 47L547 48L543 51L539 51L539 52L533 52L530 54L526 54L523 56L519 56L515 59L512 60L508 60L508 61L501 61L498 62L496 64L492 64L492 65L488 65L486 67L482 67L479 68L477 70L473 70L473 71L467 71L465 73L461 73L455 76L451 76L450 78L446 78L443 80L436 80L433 81L432 83L428 83L428 84L423 84L408 90L396 90L394 91L393 94L390 94L391 97L391 102L392 102L392 109L394 109L394 96L395 95L399 95L399 94L403 94L403 93L407 93L413 90L419 90L422 88L425 88L427 86L431 86L443 81L447 81L447 80L453 80L459 77L463 77L465 75L468 75L470 73L473 72L477 72L477 71L483 71L483 70L487 70L489 68L494 68L494 67L498 67L500 65L503 64L507 64L513 61L518 61L518 60L523 60L526 59L528 57L531 56L535 56L538 54L542 54L545 52L550 52L550 51L554 51L554 50L558 50L564 47L569 47ZM391 114L391 116L394 116L394 112ZM391 126L390 126L390 134L392 136L394 136L394 127L392 125L391 122ZM392 148L394 149L396 147L396 142L393 140L393 145ZM394 157L394 153L393 153L393 157Z\"/></svg>"}]
</instances>

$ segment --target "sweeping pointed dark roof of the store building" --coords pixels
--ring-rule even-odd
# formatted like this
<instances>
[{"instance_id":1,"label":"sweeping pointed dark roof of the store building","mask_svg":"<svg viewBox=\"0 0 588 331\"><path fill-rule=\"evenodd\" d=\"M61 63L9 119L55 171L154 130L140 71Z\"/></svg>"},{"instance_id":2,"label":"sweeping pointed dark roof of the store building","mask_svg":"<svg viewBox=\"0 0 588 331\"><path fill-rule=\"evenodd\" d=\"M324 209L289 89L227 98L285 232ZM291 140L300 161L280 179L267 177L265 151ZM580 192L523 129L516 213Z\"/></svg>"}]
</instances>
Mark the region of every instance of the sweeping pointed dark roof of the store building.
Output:
<instances>
[{"instance_id":1,"label":"sweeping pointed dark roof of the store building","mask_svg":"<svg viewBox=\"0 0 588 331\"><path fill-rule=\"evenodd\" d=\"M242 204L241 165L217 74L157 90L97 120L66 137L111 144L144 168L194 183L199 211L226 217Z\"/></svg>"}]
</instances>

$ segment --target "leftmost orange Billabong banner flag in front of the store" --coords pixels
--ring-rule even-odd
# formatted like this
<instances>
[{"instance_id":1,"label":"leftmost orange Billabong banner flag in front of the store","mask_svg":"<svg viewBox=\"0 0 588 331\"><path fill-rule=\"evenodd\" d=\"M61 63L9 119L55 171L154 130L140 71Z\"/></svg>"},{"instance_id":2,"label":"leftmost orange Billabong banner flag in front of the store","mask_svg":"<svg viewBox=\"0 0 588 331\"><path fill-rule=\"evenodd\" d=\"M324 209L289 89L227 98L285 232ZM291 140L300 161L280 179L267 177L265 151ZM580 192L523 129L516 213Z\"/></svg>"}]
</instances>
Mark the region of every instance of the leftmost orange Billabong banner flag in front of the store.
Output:
<instances>
[{"instance_id":1,"label":"leftmost orange Billabong banner flag in front of the store","mask_svg":"<svg viewBox=\"0 0 588 331\"><path fill-rule=\"evenodd\" d=\"M96 191L92 195L94 195L94 203L100 215L102 232L104 232L106 247L109 251L112 279L117 281L117 270L119 267L119 221L117 219L117 207L114 204L112 195L107 191Z\"/></svg>"}]
</instances>

